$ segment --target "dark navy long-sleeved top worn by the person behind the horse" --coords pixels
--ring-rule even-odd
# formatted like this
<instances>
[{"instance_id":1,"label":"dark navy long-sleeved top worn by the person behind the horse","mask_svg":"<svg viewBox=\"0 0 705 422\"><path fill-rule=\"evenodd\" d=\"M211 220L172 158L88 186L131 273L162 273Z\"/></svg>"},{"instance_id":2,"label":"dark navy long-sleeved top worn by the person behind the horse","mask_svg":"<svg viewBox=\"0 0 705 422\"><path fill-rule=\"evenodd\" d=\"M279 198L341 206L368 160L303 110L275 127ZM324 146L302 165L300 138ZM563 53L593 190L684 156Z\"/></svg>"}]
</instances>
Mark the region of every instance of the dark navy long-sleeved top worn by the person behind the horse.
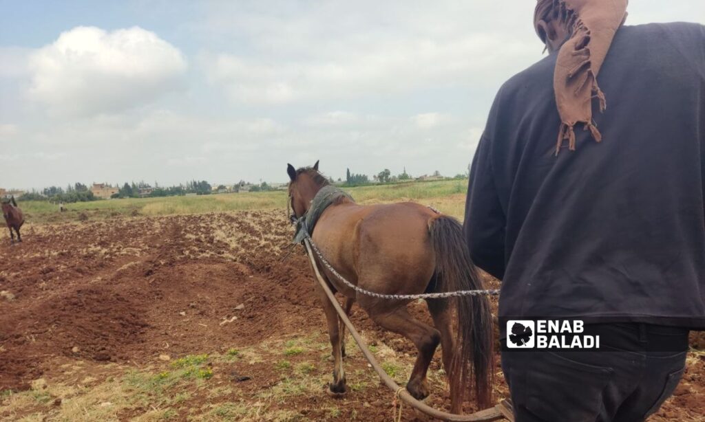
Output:
<instances>
[{"instance_id":1,"label":"dark navy long-sleeved top worn by the person behind the horse","mask_svg":"<svg viewBox=\"0 0 705 422\"><path fill-rule=\"evenodd\" d=\"M579 124L558 156L555 65L503 85L472 161L465 234L503 280L500 316L705 328L705 27L622 27L603 141Z\"/></svg>"}]
</instances>

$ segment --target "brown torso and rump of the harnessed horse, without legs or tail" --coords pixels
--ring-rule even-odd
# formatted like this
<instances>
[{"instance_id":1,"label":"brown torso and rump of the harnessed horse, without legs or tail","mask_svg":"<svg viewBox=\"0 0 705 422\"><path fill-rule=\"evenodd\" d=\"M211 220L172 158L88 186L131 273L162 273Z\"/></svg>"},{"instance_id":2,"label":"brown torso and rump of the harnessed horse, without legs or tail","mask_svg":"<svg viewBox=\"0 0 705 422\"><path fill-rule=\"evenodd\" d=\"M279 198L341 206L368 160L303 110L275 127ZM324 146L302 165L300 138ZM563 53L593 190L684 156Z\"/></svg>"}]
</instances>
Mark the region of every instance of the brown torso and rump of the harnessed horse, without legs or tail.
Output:
<instances>
[{"instance_id":1,"label":"brown torso and rump of the harnessed horse, without legs or tail","mask_svg":"<svg viewBox=\"0 0 705 422\"><path fill-rule=\"evenodd\" d=\"M422 293L434 274L429 224L436 217L417 203L343 203L326 210L313 238L326 260L360 287L377 293ZM346 290L334 277L331 282Z\"/></svg>"}]
</instances>

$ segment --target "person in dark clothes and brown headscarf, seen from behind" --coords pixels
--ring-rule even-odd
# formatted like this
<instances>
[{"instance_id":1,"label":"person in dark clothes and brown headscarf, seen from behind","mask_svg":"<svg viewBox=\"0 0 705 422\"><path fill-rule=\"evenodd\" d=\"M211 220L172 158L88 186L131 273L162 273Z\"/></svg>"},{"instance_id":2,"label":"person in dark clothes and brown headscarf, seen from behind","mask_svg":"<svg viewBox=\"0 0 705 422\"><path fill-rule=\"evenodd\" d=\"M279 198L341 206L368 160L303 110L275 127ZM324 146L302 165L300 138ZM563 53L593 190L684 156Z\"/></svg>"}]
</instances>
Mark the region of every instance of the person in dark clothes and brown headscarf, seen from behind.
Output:
<instances>
[{"instance_id":1,"label":"person in dark clothes and brown headscarf, seen from behind","mask_svg":"<svg viewBox=\"0 0 705 422\"><path fill-rule=\"evenodd\" d=\"M539 0L549 55L500 89L472 162L467 244L502 280L501 321L601 338L505 350L501 324L518 422L643 421L705 328L705 27L625 26L626 9Z\"/></svg>"}]
</instances>

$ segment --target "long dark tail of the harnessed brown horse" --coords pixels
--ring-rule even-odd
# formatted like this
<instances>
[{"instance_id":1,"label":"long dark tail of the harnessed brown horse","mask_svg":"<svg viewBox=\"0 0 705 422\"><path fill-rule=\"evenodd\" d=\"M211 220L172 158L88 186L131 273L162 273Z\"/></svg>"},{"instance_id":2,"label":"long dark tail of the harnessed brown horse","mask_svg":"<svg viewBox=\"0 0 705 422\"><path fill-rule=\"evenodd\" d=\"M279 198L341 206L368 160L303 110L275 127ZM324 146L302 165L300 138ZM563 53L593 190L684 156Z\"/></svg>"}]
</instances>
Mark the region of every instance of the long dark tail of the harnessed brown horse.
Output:
<instances>
[{"instance_id":1,"label":"long dark tail of the harnessed brown horse","mask_svg":"<svg viewBox=\"0 0 705 422\"><path fill-rule=\"evenodd\" d=\"M470 250L462 226L453 217L442 215L429 224L436 254L435 292L480 290L482 279L470 260ZM449 299L458 314L457 348L448 373L452 402L462 402L472 380L480 407L489 407L494 381L494 340L492 314L485 295Z\"/></svg>"}]
</instances>

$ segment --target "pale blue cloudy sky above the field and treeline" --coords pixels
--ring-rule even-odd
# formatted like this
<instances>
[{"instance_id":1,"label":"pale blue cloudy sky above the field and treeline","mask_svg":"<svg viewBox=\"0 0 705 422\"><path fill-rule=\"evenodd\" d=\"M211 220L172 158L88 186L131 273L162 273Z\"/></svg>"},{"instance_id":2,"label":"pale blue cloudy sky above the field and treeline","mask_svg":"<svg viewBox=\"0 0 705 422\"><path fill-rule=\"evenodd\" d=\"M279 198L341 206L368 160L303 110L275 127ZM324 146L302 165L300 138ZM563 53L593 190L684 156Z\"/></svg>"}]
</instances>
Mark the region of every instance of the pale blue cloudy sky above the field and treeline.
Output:
<instances>
[{"instance_id":1,"label":"pale blue cloudy sky above the field and treeline","mask_svg":"<svg viewBox=\"0 0 705 422\"><path fill-rule=\"evenodd\" d=\"M464 173L543 57L534 5L0 0L0 187ZM705 1L629 13L705 23Z\"/></svg>"}]
</instances>

